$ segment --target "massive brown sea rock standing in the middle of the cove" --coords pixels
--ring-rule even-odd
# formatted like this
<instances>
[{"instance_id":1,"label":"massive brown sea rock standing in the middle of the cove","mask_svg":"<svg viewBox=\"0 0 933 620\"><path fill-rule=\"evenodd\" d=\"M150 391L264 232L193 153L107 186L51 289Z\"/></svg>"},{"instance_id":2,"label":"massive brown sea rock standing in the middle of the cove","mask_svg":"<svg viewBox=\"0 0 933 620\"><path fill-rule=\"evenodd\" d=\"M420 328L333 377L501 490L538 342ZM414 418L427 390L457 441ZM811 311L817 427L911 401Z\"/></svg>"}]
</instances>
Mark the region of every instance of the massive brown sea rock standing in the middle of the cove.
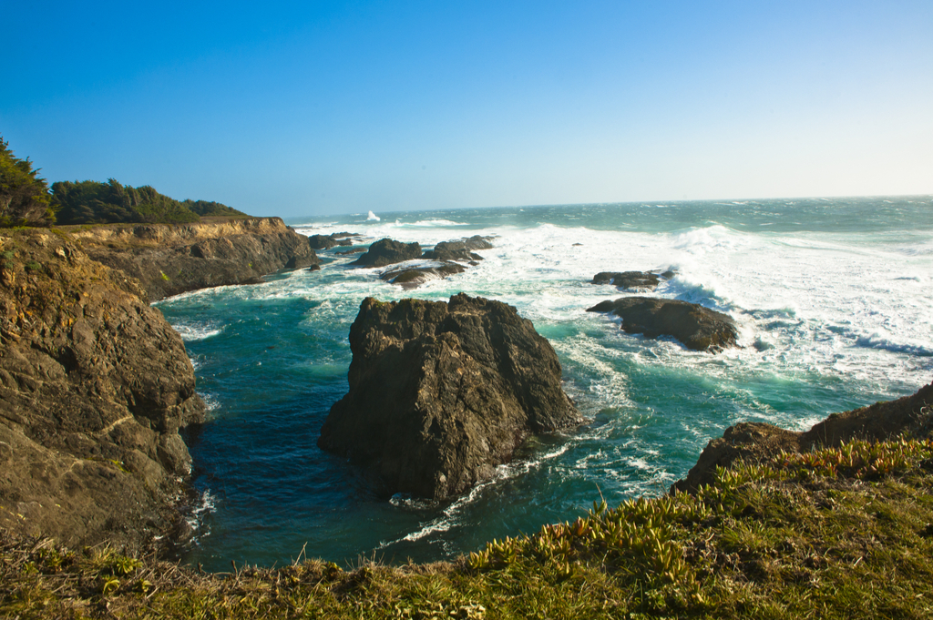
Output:
<instances>
[{"instance_id":1,"label":"massive brown sea rock standing in the middle of the cove","mask_svg":"<svg viewBox=\"0 0 933 620\"><path fill-rule=\"evenodd\" d=\"M390 493L462 493L528 434L580 421L548 341L498 301L367 297L350 347L350 391L318 445L366 466Z\"/></svg>"}]
</instances>

